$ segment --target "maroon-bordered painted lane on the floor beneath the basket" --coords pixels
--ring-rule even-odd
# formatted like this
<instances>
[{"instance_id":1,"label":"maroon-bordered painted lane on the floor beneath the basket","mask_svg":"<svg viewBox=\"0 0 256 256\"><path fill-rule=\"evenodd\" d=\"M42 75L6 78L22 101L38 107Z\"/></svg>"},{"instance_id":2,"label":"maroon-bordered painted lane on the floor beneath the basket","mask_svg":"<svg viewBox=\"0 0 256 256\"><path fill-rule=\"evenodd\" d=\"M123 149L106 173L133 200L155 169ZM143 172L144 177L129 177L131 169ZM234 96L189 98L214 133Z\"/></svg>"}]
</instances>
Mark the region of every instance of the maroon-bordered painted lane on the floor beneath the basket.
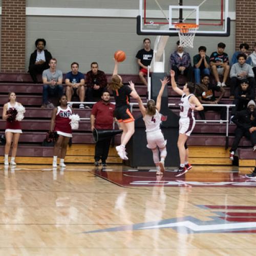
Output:
<instances>
[{"instance_id":1,"label":"maroon-bordered painted lane on the floor beneath the basket","mask_svg":"<svg viewBox=\"0 0 256 256\"><path fill-rule=\"evenodd\" d=\"M155 169L97 169L96 176L113 182L119 186L155 186L168 187L256 187L256 180L251 180L239 172L224 171L221 168L215 172L188 171L181 177L175 177L176 170L166 170L163 176L156 176Z\"/></svg>"}]
</instances>

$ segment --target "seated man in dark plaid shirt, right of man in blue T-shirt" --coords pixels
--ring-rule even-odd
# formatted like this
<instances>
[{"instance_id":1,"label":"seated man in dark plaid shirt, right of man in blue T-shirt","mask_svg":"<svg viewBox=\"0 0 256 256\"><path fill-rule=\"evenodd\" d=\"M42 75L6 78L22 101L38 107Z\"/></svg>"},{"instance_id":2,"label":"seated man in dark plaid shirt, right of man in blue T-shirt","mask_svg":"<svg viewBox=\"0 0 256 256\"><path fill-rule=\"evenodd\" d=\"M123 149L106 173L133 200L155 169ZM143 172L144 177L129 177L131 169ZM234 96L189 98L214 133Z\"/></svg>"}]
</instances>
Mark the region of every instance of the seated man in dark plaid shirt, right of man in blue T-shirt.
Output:
<instances>
[{"instance_id":1,"label":"seated man in dark plaid shirt, right of man in blue T-shirt","mask_svg":"<svg viewBox=\"0 0 256 256\"><path fill-rule=\"evenodd\" d=\"M106 75L98 70L98 63L91 63L91 70L86 74L86 101L95 102L101 99L104 88L106 87ZM89 106L92 107L92 106Z\"/></svg>"}]
</instances>

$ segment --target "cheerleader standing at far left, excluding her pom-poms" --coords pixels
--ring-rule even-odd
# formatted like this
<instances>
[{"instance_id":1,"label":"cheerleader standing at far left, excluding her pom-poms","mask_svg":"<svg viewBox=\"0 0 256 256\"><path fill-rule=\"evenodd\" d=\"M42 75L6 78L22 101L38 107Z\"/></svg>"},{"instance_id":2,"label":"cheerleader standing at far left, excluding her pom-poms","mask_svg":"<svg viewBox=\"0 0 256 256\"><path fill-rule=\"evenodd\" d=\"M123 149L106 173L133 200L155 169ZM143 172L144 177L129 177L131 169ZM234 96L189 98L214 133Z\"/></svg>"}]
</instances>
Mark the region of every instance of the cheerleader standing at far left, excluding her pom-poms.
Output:
<instances>
[{"instance_id":1,"label":"cheerleader standing at far left, excluding her pom-poms","mask_svg":"<svg viewBox=\"0 0 256 256\"><path fill-rule=\"evenodd\" d=\"M8 165L8 154L10 151L11 143L12 143L12 157L10 164L16 165L15 163L15 156L18 147L18 139L19 135L22 133L22 127L20 126L19 121L8 121L7 118L10 116L8 114L8 110L15 109L20 103L16 102L16 94L14 92L10 92L8 94L9 102L4 104L3 109L3 119L6 120L6 130L5 130L5 137L6 137L6 144L5 144L5 165Z\"/></svg>"}]
</instances>

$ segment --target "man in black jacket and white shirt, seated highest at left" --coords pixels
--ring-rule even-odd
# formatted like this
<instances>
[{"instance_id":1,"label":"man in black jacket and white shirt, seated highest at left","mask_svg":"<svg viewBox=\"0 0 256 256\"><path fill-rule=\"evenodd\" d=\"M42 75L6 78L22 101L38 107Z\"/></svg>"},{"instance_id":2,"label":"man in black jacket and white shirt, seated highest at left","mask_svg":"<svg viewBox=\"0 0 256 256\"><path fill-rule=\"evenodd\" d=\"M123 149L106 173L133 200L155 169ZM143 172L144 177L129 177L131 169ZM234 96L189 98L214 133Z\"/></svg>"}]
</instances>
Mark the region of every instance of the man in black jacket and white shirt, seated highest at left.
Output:
<instances>
[{"instance_id":1,"label":"man in black jacket and white shirt, seated highest at left","mask_svg":"<svg viewBox=\"0 0 256 256\"><path fill-rule=\"evenodd\" d=\"M46 47L46 40L38 38L35 41L36 50L30 55L29 59L29 73L34 83L38 83L36 74L41 74L44 70L49 69L49 62L52 54L48 52Z\"/></svg>"}]
</instances>

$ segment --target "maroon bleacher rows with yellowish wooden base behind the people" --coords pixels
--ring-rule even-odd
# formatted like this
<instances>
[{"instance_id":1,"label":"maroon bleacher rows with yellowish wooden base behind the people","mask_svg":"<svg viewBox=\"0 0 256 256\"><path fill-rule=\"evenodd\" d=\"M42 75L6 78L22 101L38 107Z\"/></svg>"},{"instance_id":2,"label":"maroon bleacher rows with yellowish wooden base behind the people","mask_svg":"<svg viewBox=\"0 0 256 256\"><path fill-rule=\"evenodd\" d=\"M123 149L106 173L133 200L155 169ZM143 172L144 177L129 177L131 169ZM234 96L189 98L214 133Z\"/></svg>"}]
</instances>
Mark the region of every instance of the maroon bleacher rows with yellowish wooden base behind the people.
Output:
<instances>
[{"instance_id":1,"label":"maroon bleacher rows with yellowish wooden base behind the people","mask_svg":"<svg viewBox=\"0 0 256 256\"><path fill-rule=\"evenodd\" d=\"M137 75L121 75L123 82L128 83L128 81L132 80L136 84L136 90L142 96L142 100L146 101L146 87L141 84ZM111 75L107 75L108 80L110 81ZM38 77L39 78L39 77ZM39 79L40 80L40 79ZM0 109L1 113L3 111L3 104L7 102L7 94L10 91L14 91L17 94L17 101L21 102L26 106L26 114L25 119L22 121L23 134L20 136L20 143L18 147L17 156L25 157L24 159L29 158L30 156L34 157L46 157L46 162L50 161L50 157L52 156L52 147L43 147L41 146L41 142L45 139L46 132L50 127L50 118L51 118L51 109L41 109L41 92L42 92L42 84L33 84L31 77L29 74L0 74ZM180 100L180 96L178 96L172 88L168 87L168 100L169 103L178 103ZM132 100L132 102L135 102ZM226 104L231 104L232 100L229 99L229 89L225 89L224 98L221 102ZM175 113L179 113L178 105L172 106L172 109ZM74 108L75 113L78 113L80 117L90 117L91 110L79 110ZM140 115L139 109L134 107L133 112L135 117ZM195 113L196 119L200 119L198 113ZM208 111L206 112L206 119L215 120L219 119L219 114L216 112ZM229 146L233 141L233 133L235 129L234 124L229 125ZM4 134L5 130L5 121L0 121L0 133ZM199 159L200 155L196 154L198 151L198 147L207 146L210 151L212 151L215 147L225 147L225 132L226 126L224 123L197 123L193 134L190 136L188 140L188 145L194 148L195 158ZM120 142L120 135L116 136L115 143ZM83 161L93 161L92 150L87 151L84 149L84 145L88 148L93 148L93 138L90 130L90 121L83 120L80 122L79 129L73 132L73 149L68 150L68 152L72 152L71 155L68 154L69 162L83 162ZM84 143L83 153L79 155L77 148L81 150L81 143ZM255 154L252 153L250 142L245 138L241 140L240 149L238 151L238 157L245 159L245 156L254 157ZM246 148L247 147L247 148ZM250 148L248 148L250 147ZM0 146L1 155L4 155L4 146ZM225 151L225 150L224 150ZM86 153L90 152L90 153ZM109 159L109 162L112 163L121 163L120 159L116 155L115 151L112 149L112 155ZM198 151L201 152L201 151ZM205 155L201 156L201 158L211 157L210 153L207 151L207 148L204 150ZM85 155L85 154L90 154ZM202 152L200 153L202 154ZM218 155L218 154L217 154ZM225 156L224 156L225 155ZM79 157L77 157L79 156ZM48 158L49 159L48 159ZM218 156L215 156L214 159L217 159ZM231 161L228 159L228 151L223 152L222 158L223 164L231 164ZM30 158L31 159L31 158ZM248 159L248 158L247 158ZM251 159L251 158L249 158ZM0 158L1 160L1 158ZM19 158L21 162L22 158ZM212 161L213 162L213 161ZM38 163L41 163L41 160L38 160ZM195 163L195 162L194 162ZM199 163L199 162L196 162ZM217 161L218 163L218 161ZM242 162L241 162L242 163Z\"/></svg>"}]
</instances>

